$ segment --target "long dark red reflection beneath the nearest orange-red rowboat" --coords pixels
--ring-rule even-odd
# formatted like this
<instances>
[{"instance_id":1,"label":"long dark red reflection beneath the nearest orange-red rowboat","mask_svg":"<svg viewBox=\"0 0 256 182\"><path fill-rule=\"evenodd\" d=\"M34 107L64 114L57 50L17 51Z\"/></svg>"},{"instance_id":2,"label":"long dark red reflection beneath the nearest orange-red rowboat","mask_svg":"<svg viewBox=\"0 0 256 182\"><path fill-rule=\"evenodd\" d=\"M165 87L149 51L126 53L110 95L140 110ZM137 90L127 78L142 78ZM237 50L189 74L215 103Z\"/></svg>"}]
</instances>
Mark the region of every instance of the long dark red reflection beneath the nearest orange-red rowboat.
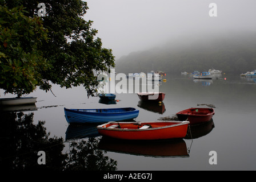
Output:
<instances>
[{"instance_id":1,"label":"long dark red reflection beneath the nearest orange-red rowboat","mask_svg":"<svg viewBox=\"0 0 256 182\"><path fill-rule=\"evenodd\" d=\"M131 155L151 157L186 158L189 157L186 142L183 139L131 141L102 137L98 144L99 150L118 152Z\"/></svg>"}]
</instances>

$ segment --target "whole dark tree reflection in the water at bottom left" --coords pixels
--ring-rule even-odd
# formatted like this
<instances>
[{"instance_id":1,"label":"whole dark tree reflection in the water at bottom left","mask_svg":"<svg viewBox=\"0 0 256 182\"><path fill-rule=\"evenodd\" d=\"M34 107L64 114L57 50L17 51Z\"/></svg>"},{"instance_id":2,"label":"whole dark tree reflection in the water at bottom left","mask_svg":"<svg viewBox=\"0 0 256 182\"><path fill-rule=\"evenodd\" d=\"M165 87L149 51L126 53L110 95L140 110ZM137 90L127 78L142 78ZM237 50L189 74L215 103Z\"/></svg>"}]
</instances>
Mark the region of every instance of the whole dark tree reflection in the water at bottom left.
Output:
<instances>
[{"instance_id":1,"label":"whole dark tree reflection in the water at bottom left","mask_svg":"<svg viewBox=\"0 0 256 182\"><path fill-rule=\"evenodd\" d=\"M64 142L50 137L45 121L34 122L34 112L1 111L0 168L7 172L113 171L117 161L98 150L99 138ZM71 126L71 125L70 125ZM95 127L96 128L96 127ZM72 129L71 129L72 130ZM97 131L97 130L96 130ZM75 133L69 132L68 133ZM93 132L91 132L93 133ZM63 152L63 150L66 150ZM38 165L38 151L46 153L46 164ZM66 154L65 154L66 153Z\"/></svg>"}]
</instances>

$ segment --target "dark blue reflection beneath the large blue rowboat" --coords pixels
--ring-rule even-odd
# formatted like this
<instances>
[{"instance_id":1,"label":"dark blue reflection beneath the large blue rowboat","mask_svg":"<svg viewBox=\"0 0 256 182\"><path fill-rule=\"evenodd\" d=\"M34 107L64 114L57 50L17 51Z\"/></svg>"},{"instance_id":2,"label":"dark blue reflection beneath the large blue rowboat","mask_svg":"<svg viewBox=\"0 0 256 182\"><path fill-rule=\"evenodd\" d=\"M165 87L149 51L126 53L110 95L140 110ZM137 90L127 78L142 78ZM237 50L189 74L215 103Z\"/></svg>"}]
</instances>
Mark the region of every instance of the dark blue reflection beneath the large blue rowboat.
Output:
<instances>
[{"instance_id":1,"label":"dark blue reflection beneath the large blue rowboat","mask_svg":"<svg viewBox=\"0 0 256 182\"><path fill-rule=\"evenodd\" d=\"M97 125L69 125L66 130L66 140L98 137Z\"/></svg>"}]
</instances>

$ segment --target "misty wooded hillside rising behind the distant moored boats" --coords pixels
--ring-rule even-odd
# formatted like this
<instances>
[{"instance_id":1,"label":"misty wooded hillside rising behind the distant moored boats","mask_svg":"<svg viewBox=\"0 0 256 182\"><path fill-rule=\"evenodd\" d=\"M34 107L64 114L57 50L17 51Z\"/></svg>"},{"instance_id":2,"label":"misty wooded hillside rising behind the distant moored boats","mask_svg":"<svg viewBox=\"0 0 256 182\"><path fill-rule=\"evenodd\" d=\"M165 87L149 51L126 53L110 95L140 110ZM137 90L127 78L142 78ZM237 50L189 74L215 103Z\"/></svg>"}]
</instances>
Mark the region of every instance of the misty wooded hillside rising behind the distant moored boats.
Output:
<instances>
[{"instance_id":1,"label":"misty wooded hillside rising behind the distant moored boats","mask_svg":"<svg viewBox=\"0 0 256 182\"><path fill-rule=\"evenodd\" d=\"M256 69L256 33L187 36L162 46L131 52L116 61L118 73L208 71L242 73Z\"/></svg>"}]
</instances>

